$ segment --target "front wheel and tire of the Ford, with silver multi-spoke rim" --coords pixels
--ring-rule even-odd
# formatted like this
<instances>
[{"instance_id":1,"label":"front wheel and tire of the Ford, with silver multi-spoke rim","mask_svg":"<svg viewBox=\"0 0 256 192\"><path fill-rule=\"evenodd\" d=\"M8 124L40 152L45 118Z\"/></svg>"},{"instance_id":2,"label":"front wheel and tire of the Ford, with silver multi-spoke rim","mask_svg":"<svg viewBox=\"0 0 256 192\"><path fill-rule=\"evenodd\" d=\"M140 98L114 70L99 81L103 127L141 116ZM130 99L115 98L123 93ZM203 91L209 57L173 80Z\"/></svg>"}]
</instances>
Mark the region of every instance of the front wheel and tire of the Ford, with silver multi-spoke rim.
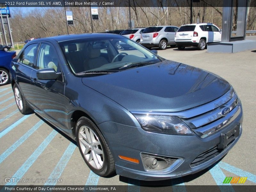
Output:
<instances>
[{"instance_id":1,"label":"front wheel and tire of the Ford, with silver multi-spoke rim","mask_svg":"<svg viewBox=\"0 0 256 192\"><path fill-rule=\"evenodd\" d=\"M97 126L87 117L76 123L76 141L88 167L97 175L106 177L115 172L115 161Z\"/></svg>"}]
</instances>

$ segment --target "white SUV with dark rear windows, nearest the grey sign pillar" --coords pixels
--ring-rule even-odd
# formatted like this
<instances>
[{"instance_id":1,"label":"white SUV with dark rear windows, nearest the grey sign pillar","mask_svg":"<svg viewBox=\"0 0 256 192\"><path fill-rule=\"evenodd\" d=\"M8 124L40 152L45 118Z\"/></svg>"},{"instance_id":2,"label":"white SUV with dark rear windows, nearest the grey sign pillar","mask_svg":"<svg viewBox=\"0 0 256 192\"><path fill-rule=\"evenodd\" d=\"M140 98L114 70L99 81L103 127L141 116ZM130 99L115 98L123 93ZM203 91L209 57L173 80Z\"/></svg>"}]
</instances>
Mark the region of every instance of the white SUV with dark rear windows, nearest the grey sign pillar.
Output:
<instances>
[{"instance_id":1,"label":"white SUV with dark rear windows, nearest the grey sign pillar","mask_svg":"<svg viewBox=\"0 0 256 192\"><path fill-rule=\"evenodd\" d=\"M221 29L212 23L182 25L175 35L178 49L195 46L204 50L206 44L220 42Z\"/></svg>"}]
</instances>

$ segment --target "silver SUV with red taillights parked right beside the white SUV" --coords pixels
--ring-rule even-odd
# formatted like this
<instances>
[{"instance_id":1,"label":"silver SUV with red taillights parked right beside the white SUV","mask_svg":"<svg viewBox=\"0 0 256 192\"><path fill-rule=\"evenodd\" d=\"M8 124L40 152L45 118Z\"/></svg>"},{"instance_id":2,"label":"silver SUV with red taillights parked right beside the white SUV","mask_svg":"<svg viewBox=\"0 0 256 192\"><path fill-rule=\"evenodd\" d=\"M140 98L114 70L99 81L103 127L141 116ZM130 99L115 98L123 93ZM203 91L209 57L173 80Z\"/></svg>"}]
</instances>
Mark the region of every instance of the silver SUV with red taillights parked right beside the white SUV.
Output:
<instances>
[{"instance_id":1,"label":"silver SUV with red taillights parked right beside the white SUV","mask_svg":"<svg viewBox=\"0 0 256 192\"><path fill-rule=\"evenodd\" d=\"M159 47L166 49L167 45L175 47L175 33L178 31L176 26L155 26L147 27L141 34L140 44L144 47Z\"/></svg>"}]
</instances>

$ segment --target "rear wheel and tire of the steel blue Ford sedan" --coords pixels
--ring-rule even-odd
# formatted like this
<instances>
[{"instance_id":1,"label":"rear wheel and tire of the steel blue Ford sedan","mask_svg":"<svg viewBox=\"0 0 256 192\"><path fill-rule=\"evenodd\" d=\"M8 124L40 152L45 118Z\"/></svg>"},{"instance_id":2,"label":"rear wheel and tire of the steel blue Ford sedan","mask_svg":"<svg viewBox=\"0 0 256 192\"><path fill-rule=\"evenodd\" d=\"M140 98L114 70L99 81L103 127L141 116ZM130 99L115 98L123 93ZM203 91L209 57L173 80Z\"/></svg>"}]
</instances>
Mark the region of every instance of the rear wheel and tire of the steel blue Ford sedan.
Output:
<instances>
[{"instance_id":1,"label":"rear wheel and tire of the steel blue Ford sedan","mask_svg":"<svg viewBox=\"0 0 256 192\"><path fill-rule=\"evenodd\" d=\"M22 113L23 115L27 115L27 114L33 112L33 110L28 106L28 103L24 99L17 84L14 84L14 86L13 86L13 93L14 93L17 107L20 110L20 113Z\"/></svg>"}]
</instances>

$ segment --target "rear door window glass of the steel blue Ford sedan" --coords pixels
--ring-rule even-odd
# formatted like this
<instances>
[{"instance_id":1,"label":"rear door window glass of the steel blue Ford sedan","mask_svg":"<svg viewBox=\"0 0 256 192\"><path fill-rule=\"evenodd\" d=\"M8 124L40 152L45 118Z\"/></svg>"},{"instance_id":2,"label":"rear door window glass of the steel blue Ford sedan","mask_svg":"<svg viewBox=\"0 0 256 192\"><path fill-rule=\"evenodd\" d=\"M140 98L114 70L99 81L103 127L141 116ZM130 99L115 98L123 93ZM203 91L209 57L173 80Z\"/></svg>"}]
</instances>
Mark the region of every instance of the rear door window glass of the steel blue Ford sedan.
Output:
<instances>
[{"instance_id":1,"label":"rear door window glass of the steel blue Ford sedan","mask_svg":"<svg viewBox=\"0 0 256 192\"><path fill-rule=\"evenodd\" d=\"M23 54L21 54L22 56L20 58L20 62L32 67L35 63L36 53L37 53L37 43L28 45L24 50Z\"/></svg>"}]
</instances>

